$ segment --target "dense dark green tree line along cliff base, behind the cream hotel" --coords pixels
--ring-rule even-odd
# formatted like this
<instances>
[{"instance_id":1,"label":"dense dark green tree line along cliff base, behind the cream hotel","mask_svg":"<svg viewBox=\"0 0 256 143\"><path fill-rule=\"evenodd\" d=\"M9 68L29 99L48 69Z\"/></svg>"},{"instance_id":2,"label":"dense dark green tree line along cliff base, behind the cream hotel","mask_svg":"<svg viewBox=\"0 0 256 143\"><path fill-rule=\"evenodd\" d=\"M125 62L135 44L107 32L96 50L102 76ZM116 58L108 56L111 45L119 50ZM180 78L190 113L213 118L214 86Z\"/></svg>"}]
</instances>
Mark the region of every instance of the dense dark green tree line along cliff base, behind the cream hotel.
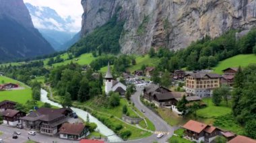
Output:
<instances>
[{"instance_id":1,"label":"dense dark green tree line along cliff base, behind the cream hotel","mask_svg":"<svg viewBox=\"0 0 256 143\"><path fill-rule=\"evenodd\" d=\"M183 67L187 67L187 70L211 68L216 66L219 61L237 54L256 54L256 28L251 29L241 38L236 36L237 32L239 31L230 30L214 39L205 36L177 52L166 48L160 48L158 51L150 48L148 54L151 58L160 58L161 64L157 66L159 70L166 69L170 72Z\"/></svg>"}]
</instances>

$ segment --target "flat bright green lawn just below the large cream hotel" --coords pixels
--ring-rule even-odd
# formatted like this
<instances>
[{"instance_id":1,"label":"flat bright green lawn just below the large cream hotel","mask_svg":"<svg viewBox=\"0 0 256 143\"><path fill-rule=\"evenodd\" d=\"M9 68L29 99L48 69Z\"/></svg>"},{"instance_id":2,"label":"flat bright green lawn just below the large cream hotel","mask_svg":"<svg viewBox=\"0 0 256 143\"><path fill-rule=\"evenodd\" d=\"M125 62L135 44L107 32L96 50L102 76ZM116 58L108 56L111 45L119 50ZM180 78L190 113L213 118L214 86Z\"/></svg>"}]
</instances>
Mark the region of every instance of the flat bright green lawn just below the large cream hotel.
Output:
<instances>
[{"instance_id":1,"label":"flat bright green lawn just below the large cream hotel","mask_svg":"<svg viewBox=\"0 0 256 143\"><path fill-rule=\"evenodd\" d=\"M197 110L197 116L202 118L214 118L220 117L231 113L231 101L228 101L228 106L224 101L219 106L212 103L212 98L203 98L203 102L207 104L207 107Z\"/></svg>"}]
</instances>

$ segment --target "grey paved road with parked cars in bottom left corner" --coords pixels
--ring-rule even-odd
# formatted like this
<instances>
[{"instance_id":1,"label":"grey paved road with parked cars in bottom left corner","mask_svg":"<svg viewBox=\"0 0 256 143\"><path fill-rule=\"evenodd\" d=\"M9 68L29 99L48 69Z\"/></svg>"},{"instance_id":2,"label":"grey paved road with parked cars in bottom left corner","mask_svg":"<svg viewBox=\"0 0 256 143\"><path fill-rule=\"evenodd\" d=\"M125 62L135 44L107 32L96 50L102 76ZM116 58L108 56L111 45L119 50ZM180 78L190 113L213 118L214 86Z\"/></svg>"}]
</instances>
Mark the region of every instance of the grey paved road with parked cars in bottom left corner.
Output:
<instances>
[{"instance_id":1,"label":"grey paved road with parked cars in bottom left corner","mask_svg":"<svg viewBox=\"0 0 256 143\"><path fill-rule=\"evenodd\" d=\"M58 136L46 136L46 135L42 135L42 134L36 134L36 136L30 136L28 135L29 130L20 130L18 128L12 128L12 127L7 127L7 126L3 126L0 125L0 131L3 132L3 134L0 136L1 139L3 139L3 142L7 142L7 143L22 143L22 142L26 142L28 141L28 137L30 138L30 140L34 140L36 142L40 142L40 143L52 143L53 141L55 143L71 143L71 142L76 142L77 141L71 141L71 140L63 140L58 138ZM13 132L20 132L21 134L18 135L18 139L13 139L12 135Z\"/></svg>"}]
</instances>

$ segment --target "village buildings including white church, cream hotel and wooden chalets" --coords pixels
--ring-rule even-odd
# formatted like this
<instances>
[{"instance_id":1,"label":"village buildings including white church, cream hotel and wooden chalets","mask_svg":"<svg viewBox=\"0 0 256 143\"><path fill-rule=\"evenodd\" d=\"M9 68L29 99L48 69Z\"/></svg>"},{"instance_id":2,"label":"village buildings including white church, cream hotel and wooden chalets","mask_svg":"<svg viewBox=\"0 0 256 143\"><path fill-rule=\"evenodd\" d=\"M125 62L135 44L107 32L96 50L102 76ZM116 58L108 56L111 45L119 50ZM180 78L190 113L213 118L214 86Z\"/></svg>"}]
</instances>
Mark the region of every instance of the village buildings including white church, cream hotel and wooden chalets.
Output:
<instances>
[{"instance_id":1,"label":"village buildings including white church, cream hotel and wooden chalets","mask_svg":"<svg viewBox=\"0 0 256 143\"><path fill-rule=\"evenodd\" d=\"M150 80L145 80L152 77L154 67L146 67L145 70L135 70L132 74L129 72L123 73L123 78L126 83L134 84L137 87L137 91L141 91L139 96L146 105L153 104L156 108L169 109L173 113L182 116L184 113L189 112L190 107L195 104L199 108L205 107L206 103L202 99L212 97L214 89L227 85L232 90L234 76L237 71L238 68L226 68L223 70L223 75L218 75L211 73L209 70L174 70L174 73L170 75L170 81L172 81L172 85L176 88L182 85L179 91L172 91L173 88L169 89L168 87L156 85ZM121 97L125 97L125 91L127 91L126 84L113 78L109 64L104 76L104 82L106 94L114 91L119 93ZM21 87L14 83L0 86L1 91L18 90L19 88ZM185 106L187 108L184 111L180 111L177 107L179 101L182 100L186 100ZM44 136L55 136L56 140L56 136L59 136L60 139L65 140L90 142L89 140L82 140L89 136L90 126L79 120L71 108L35 107L35 109L30 110L30 113L26 114L23 111L16 110L16 104L13 101L7 100L0 103L0 111L3 118L3 126L1 128L10 128L13 132L12 138L22 136L18 131L26 130L28 132L28 139L40 134L40 136L43 136L42 138ZM141 109L141 112L145 113L146 111ZM123 120L129 124L138 124L143 119L123 115ZM221 128L195 120L189 120L183 126L180 126L178 130L182 130L181 136L183 139L190 140L191 142L214 142L218 136L226 138L229 143L241 142L241 140L243 142L255 142L246 136L236 135L228 130L222 130ZM157 135L157 138L164 136L163 133ZM174 136L179 135L174 134ZM97 141L96 138L94 138L94 141L104 142L104 140Z\"/></svg>"}]
</instances>

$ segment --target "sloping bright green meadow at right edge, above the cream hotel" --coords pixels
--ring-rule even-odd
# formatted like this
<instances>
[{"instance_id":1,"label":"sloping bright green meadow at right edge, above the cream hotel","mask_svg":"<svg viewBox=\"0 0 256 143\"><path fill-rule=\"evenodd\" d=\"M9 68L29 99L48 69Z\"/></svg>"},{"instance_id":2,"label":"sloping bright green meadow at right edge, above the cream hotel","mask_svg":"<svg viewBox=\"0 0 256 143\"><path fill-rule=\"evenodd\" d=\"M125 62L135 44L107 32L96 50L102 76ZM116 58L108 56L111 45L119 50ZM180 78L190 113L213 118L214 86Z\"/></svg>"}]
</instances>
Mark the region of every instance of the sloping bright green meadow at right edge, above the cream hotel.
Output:
<instances>
[{"instance_id":1,"label":"sloping bright green meadow at right edge, above the cream hotel","mask_svg":"<svg viewBox=\"0 0 256 143\"><path fill-rule=\"evenodd\" d=\"M225 68L238 66L245 67L252 63L256 63L255 54L238 54L219 62L219 64L214 67L214 73L222 74L222 70Z\"/></svg>"}]
</instances>

